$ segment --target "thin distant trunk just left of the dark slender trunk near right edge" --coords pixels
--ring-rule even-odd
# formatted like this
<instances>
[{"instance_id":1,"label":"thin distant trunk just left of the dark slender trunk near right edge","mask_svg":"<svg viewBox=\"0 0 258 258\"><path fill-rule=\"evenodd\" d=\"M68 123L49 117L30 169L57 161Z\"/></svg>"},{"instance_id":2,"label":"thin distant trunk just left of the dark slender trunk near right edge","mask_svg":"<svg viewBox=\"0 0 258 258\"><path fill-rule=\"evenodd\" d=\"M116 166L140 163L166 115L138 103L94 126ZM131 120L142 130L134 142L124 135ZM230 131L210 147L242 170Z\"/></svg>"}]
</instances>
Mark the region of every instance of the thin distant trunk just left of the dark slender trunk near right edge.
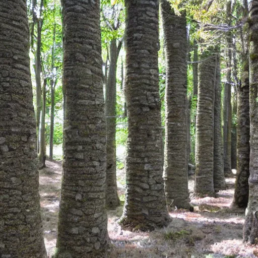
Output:
<instances>
[{"instance_id":1,"label":"thin distant trunk just left of the dark slender trunk near right edge","mask_svg":"<svg viewBox=\"0 0 258 258\"><path fill-rule=\"evenodd\" d=\"M231 0L227 2L228 25L231 26ZM231 60L232 60L232 38L230 33L227 35L228 56L227 56L227 76L224 87L224 174L226 177L232 176L231 170L231 125L232 125L232 108L231 108Z\"/></svg>"}]
</instances>

